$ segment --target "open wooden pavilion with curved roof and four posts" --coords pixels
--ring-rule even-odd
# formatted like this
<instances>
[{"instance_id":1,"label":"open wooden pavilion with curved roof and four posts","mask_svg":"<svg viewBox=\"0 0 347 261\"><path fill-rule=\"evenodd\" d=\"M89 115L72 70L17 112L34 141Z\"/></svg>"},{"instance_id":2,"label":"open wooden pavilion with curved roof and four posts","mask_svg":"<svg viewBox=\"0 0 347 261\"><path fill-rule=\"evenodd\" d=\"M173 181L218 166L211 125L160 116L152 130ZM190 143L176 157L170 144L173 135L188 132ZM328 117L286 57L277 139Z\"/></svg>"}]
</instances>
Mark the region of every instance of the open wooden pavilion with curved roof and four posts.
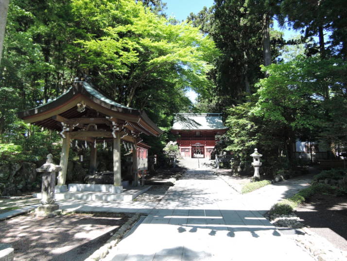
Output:
<instances>
[{"instance_id":1,"label":"open wooden pavilion with curved roof and four posts","mask_svg":"<svg viewBox=\"0 0 347 261\"><path fill-rule=\"evenodd\" d=\"M98 91L87 81L75 81L73 86L56 99L34 109L18 112L25 123L50 130L57 130L63 145L60 158L62 170L58 175L57 189L66 183L70 140L85 140L92 143L90 167L95 169L97 143L113 143L113 193L120 193L121 186L121 140L133 144L133 174L138 179L137 144L141 133L159 136L163 131L143 111L126 107ZM137 184L137 182L135 183ZM66 187L66 186L65 186Z\"/></svg>"}]
</instances>

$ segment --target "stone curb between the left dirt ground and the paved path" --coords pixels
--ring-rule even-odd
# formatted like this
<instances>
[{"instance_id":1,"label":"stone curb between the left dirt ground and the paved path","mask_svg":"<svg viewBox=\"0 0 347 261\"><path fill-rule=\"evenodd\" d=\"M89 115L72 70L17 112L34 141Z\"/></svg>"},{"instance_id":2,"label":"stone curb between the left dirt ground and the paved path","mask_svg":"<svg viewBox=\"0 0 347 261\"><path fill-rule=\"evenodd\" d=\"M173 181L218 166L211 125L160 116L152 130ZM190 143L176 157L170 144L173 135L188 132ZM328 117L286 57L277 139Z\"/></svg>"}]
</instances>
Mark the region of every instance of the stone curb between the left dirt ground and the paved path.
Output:
<instances>
[{"instance_id":1,"label":"stone curb between the left dirt ground and the paved path","mask_svg":"<svg viewBox=\"0 0 347 261\"><path fill-rule=\"evenodd\" d=\"M140 216L141 214L137 213L129 218L129 220L125 222L125 224L123 224L102 247L91 254L87 259L85 259L85 261L99 261L106 257L109 251L114 248L121 241L124 235L133 227L133 225L138 222Z\"/></svg>"}]
</instances>

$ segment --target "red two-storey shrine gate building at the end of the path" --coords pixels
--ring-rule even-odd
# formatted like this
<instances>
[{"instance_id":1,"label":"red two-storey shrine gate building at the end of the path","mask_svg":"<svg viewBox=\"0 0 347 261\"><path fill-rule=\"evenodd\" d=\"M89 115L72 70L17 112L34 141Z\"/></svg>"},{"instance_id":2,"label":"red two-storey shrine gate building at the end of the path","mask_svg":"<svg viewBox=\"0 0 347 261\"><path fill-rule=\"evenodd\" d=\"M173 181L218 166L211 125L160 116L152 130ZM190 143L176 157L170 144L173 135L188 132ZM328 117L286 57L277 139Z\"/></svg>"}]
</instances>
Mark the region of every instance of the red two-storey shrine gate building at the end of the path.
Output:
<instances>
[{"instance_id":1,"label":"red two-storey shrine gate building at the end of the path","mask_svg":"<svg viewBox=\"0 0 347 261\"><path fill-rule=\"evenodd\" d=\"M178 137L182 157L210 159L217 142L215 136L227 129L222 113L177 113L171 132Z\"/></svg>"}]
</instances>

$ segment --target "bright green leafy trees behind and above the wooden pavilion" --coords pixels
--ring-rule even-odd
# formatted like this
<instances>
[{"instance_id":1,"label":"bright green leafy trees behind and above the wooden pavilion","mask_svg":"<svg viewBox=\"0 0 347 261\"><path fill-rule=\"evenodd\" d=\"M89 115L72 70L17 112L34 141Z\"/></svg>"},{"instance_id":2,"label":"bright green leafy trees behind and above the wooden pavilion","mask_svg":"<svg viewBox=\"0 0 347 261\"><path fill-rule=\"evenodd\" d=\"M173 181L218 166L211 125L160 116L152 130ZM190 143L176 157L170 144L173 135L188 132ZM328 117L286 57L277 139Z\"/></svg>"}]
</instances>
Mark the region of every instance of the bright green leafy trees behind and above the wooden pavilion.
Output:
<instances>
[{"instance_id":1,"label":"bright green leafy trees behind and above the wooden pavilion","mask_svg":"<svg viewBox=\"0 0 347 261\"><path fill-rule=\"evenodd\" d=\"M56 133L24 124L16 112L42 105L87 74L166 130L159 139L143 137L150 153L162 153L173 114L193 110L185 89L204 93L212 86L207 74L219 54L210 37L166 19L164 8L161 0L12 0L0 64L0 142L21 146L23 160L59 155Z\"/></svg>"}]
</instances>

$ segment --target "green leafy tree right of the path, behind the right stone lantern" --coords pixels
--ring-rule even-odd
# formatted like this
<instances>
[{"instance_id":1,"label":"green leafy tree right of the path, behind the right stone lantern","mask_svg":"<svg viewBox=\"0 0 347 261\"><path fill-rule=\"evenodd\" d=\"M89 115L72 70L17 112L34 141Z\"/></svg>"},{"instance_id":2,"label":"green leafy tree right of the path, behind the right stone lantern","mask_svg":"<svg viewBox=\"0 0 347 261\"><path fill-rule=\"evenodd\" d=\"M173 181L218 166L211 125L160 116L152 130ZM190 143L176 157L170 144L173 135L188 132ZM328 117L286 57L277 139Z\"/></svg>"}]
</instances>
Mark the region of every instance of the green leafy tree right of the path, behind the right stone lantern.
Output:
<instances>
[{"instance_id":1,"label":"green leafy tree right of the path, behind the right stone lantern","mask_svg":"<svg viewBox=\"0 0 347 261\"><path fill-rule=\"evenodd\" d=\"M257 127L266 126L264 131L273 132L272 138L269 135L265 140L283 148L291 164L294 164L292 143L296 138L326 139L330 143L344 144L347 141L346 122L332 115L346 110L331 106L331 102L340 101L342 107L346 106L343 82L347 79L342 73L346 69L341 59L303 56L262 68L270 76L257 84L254 94L257 102L247 118L258 119ZM325 98L327 84L329 99ZM243 130L247 132L244 127Z\"/></svg>"}]
</instances>

